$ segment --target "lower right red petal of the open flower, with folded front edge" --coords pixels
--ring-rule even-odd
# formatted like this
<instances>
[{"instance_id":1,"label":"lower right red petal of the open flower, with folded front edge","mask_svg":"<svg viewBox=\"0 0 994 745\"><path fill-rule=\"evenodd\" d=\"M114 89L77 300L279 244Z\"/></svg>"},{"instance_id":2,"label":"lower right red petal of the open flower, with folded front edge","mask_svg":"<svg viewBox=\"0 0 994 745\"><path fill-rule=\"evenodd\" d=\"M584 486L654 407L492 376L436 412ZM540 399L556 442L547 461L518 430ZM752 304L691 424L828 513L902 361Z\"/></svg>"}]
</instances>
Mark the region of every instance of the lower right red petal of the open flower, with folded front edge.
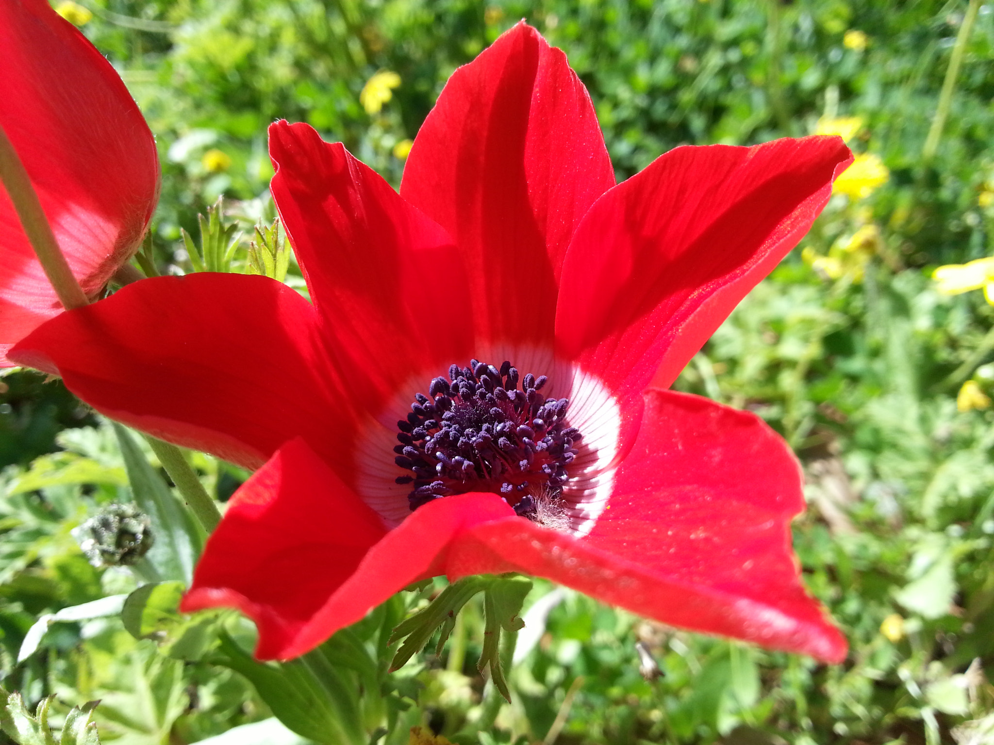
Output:
<instances>
[{"instance_id":1,"label":"lower right red petal of the open flower, with folded front edge","mask_svg":"<svg viewBox=\"0 0 994 745\"><path fill-rule=\"evenodd\" d=\"M524 571L674 626L842 661L845 639L805 594L790 550L804 502L786 444L752 414L705 398L645 398L642 430L589 535L477 524L449 549L447 572Z\"/></svg>"}]
</instances>

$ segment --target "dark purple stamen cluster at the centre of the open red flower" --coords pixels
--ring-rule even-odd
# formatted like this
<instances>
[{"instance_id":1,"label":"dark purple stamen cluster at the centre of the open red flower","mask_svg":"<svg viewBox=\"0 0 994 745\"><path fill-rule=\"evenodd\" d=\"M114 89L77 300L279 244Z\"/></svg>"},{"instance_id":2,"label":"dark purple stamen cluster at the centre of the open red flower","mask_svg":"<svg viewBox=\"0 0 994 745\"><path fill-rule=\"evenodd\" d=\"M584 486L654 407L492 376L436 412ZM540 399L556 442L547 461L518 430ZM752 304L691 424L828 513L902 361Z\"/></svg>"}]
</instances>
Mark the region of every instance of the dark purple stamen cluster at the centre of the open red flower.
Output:
<instances>
[{"instance_id":1,"label":"dark purple stamen cluster at the centre of the open red flower","mask_svg":"<svg viewBox=\"0 0 994 745\"><path fill-rule=\"evenodd\" d=\"M567 421L569 398L547 399L545 375L471 360L435 377L428 395L414 394L401 430L395 462L414 476L411 510L465 492L494 492L515 512L538 522L557 522L557 504L581 434Z\"/></svg>"}]
</instances>

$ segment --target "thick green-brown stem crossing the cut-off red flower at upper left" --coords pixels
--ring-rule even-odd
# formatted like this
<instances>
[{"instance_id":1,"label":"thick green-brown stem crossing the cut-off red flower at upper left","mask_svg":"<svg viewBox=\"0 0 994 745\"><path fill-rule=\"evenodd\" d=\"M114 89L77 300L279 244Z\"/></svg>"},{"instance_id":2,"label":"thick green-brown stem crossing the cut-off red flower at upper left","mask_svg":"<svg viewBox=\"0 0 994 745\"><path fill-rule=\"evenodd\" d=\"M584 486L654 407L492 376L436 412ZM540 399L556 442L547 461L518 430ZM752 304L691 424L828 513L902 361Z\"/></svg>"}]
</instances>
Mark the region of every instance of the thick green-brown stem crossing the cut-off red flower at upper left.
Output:
<instances>
[{"instance_id":1,"label":"thick green-brown stem crossing the cut-off red flower at upper left","mask_svg":"<svg viewBox=\"0 0 994 745\"><path fill-rule=\"evenodd\" d=\"M45 275L55 288L59 302L66 310L87 305L89 300L73 270L69 268L69 262L45 217L45 210L38 200L38 194L31 185L31 178L2 126L0 126L0 182L7 190L7 196L10 197L24 228L24 234L28 236L32 248L35 249Z\"/></svg>"}]
</instances>

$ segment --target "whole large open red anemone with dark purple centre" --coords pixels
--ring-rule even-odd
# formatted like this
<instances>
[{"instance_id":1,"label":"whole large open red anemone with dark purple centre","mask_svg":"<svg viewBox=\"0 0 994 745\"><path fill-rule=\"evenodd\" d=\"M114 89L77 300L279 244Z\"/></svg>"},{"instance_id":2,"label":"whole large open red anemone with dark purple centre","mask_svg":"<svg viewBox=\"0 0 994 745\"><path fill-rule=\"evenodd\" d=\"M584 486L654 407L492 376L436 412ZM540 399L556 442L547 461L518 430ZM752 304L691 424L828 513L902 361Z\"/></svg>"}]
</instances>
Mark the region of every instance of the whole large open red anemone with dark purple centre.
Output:
<instances>
[{"instance_id":1,"label":"whole large open red anemone with dark purple centre","mask_svg":"<svg viewBox=\"0 0 994 745\"><path fill-rule=\"evenodd\" d=\"M808 229L838 137L680 147L615 186L565 55L521 24L452 75L398 195L276 122L312 303L257 276L125 287L20 362L108 416L260 467L186 595L290 658L414 580L519 571L837 662L798 580L801 473L757 417L668 386Z\"/></svg>"}]
</instances>

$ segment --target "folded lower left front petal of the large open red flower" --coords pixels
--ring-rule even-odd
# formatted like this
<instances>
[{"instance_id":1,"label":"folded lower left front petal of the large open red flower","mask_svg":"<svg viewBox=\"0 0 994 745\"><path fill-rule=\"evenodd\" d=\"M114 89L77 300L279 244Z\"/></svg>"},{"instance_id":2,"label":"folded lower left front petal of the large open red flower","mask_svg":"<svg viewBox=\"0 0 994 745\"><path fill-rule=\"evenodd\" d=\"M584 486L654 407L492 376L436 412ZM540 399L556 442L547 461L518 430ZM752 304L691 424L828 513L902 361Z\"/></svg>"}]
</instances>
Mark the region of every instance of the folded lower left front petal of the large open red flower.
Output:
<instances>
[{"instance_id":1,"label":"folded lower left front petal of the large open red flower","mask_svg":"<svg viewBox=\"0 0 994 745\"><path fill-rule=\"evenodd\" d=\"M286 660L412 582L441 574L449 543L466 525L508 515L513 511L496 495L464 495L425 505L386 532L297 440L236 494L182 610L239 608L258 626L256 657Z\"/></svg>"}]
</instances>

